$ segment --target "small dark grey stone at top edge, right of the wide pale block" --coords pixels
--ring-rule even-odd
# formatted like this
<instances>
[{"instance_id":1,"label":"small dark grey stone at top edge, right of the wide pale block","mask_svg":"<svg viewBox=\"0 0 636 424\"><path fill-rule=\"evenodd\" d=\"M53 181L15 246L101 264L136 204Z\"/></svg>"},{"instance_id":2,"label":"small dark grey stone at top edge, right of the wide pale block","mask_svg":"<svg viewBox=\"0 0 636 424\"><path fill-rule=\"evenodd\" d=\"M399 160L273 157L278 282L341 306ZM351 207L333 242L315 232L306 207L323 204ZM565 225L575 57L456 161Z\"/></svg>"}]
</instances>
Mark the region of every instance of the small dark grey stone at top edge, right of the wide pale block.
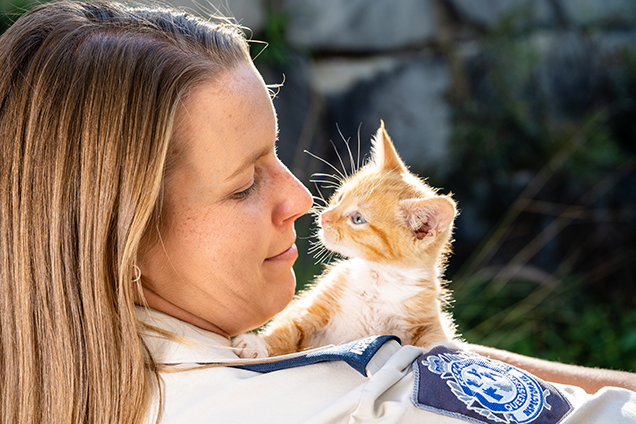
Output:
<instances>
[{"instance_id":1,"label":"small dark grey stone at top edge, right of the wide pale block","mask_svg":"<svg viewBox=\"0 0 636 424\"><path fill-rule=\"evenodd\" d=\"M507 18L519 18L531 25L553 25L550 0L448 0L464 19L492 26Z\"/></svg>"}]
</instances>

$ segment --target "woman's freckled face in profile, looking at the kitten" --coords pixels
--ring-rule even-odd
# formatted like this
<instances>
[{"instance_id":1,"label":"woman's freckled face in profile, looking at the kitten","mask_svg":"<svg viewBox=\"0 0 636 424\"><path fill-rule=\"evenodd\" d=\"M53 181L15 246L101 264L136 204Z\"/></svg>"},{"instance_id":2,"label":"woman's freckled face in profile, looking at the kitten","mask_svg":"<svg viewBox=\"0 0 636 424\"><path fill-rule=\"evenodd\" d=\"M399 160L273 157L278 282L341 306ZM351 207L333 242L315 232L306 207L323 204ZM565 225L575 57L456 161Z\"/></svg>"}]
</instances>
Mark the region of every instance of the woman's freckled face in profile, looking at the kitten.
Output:
<instances>
[{"instance_id":1,"label":"woman's freckled face in profile, looking at the kitten","mask_svg":"<svg viewBox=\"0 0 636 424\"><path fill-rule=\"evenodd\" d=\"M139 258L151 307L233 336L290 302L294 221L311 196L278 160L276 138L274 107L251 64L184 100L160 238Z\"/></svg>"}]
</instances>

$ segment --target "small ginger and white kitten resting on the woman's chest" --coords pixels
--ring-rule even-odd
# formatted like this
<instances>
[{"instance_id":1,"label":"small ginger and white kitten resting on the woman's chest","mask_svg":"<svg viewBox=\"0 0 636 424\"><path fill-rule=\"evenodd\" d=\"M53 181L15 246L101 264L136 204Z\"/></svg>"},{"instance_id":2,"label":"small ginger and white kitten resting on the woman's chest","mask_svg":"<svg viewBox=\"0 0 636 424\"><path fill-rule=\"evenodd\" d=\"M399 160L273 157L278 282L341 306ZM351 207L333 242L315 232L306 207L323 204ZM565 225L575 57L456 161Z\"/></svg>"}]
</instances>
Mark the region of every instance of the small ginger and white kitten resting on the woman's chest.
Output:
<instances>
[{"instance_id":1,"label":"small ginger and white kitten resting on the woman's chest","mask_svg":"<svg viewBox=\"0 0 636 424\"><path fill-rule=\"evenodd\" d=\"M259 334L237 336L239 356L276 356L371 335L424 348L454 345L442 274L456 215L450 196L408 171L382 122L371 160L348 177L320 214L320 238L348 258Z\"/></svg>"}]
</instances>

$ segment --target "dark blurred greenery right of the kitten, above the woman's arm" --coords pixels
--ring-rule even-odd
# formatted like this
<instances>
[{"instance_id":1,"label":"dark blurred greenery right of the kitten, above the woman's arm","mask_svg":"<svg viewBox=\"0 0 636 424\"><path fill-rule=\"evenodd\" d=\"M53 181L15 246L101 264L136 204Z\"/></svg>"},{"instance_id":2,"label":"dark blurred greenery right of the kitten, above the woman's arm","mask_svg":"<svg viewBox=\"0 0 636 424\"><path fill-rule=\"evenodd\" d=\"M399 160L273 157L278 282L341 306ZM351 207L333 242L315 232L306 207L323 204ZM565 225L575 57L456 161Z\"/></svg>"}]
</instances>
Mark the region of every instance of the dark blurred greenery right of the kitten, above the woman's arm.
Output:
<instances>
[{"instance_id":1,"label":"dark blurred greenery right of the kitten, above the woman's arm","mask_svg":"<svg viewBox=\"0 0 636 424\"><path fill-rule=\"evenodd\" d=\"M474 222L458 220L448 277L459 331L529 356L636 371L636 49L609 58L564 49L578 67L564 71L564 89L559 63L511 28L485 37L456 96L445 186L492 229L471 242L462 225ZM586 46L568 36L574 50Z\"/></svg>"}]
</instances>

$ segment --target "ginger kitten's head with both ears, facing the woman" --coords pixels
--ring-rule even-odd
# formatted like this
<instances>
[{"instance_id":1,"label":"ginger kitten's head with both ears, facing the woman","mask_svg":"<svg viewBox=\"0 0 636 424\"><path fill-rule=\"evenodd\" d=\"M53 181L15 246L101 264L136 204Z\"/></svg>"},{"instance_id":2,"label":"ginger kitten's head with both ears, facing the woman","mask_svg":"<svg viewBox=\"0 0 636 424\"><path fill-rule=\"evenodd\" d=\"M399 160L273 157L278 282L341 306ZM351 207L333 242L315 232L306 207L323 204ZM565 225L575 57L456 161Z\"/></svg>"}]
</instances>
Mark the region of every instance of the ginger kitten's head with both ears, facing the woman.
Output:
<instances>
[{"instance_id":1,"label":"ginger kitten's head with both ears, facing the woman","mask_svg":"<svg viewBox=\"0 0 636 424\"><path fill-rule=\"evenodd\" d=\"M346 257L433 266L447 251L455 215L450 196L408 171L382 122L371 160L342 183L320 214L320 238Z\"/></svg>"}]
</instances>

